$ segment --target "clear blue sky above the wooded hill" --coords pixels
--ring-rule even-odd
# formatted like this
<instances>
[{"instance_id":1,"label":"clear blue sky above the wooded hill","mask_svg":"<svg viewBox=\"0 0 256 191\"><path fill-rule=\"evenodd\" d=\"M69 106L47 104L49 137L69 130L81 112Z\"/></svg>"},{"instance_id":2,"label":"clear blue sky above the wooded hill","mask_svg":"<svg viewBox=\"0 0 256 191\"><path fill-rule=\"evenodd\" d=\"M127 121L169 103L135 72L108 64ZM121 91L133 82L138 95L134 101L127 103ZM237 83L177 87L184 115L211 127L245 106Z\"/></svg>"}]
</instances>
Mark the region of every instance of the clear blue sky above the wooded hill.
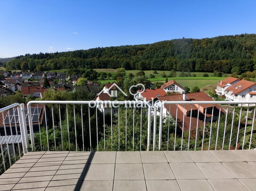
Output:
<instances>
[{"instance_id":1,"label":"clear blue sky above the wooded hill","mask_svg":"<svg viewBox=\"0 0 256 191\"><path fill-rule=\"evenodd\" d=\"M0 0L0 58L256 33L256 0Z\"/></svg>"}]
</instances>

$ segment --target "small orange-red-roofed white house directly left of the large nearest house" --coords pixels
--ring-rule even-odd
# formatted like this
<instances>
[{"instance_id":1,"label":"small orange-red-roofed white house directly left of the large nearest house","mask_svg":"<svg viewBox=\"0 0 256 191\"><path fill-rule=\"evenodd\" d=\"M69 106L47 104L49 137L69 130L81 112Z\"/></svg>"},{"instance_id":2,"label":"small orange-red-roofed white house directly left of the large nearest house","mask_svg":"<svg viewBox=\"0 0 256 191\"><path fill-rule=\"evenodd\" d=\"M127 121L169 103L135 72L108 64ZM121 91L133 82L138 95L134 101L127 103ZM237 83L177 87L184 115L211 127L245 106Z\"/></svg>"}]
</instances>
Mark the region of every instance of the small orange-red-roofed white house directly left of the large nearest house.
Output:
<instances>
[{"instance_id":1,"label":"small orange-red-roofed white house directly left of the large nearest house","mask_svg":"<svg viewBox=\"0 0 256 191\"><path fill-rule=\"evenodd\" d=\"M145 100L145 101L152 101L157 99L159 96L166 95L164 89L157 88L157 89L146 89L145 91L139 90L138 94L135 95L135 100Z\"/></svg>"}]
</instances>

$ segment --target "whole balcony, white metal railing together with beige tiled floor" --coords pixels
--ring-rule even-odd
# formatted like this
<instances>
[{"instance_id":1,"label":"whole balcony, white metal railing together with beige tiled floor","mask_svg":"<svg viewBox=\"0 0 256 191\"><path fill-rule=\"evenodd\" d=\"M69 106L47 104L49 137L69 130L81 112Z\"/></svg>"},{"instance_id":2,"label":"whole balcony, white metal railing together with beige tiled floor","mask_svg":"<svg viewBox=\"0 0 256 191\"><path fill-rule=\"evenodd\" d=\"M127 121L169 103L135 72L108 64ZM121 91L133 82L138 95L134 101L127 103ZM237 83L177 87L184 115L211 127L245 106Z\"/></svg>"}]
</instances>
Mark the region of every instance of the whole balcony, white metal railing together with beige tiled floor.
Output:
<instances>
[{"instance_id":1,"label":"whole balcony, white metal railing together with beige tiled floor","mask_svg":"<svg viewBox=\"0 0 256 191\"><path fill-rule=\"evenodd\" d=\"M253 191L256 101L242 103L30 101L1 108L0 190ZM116 112L102 113L99 104ZM165 105L175 111L161 115Z\"/></svg>"}]
</instances>

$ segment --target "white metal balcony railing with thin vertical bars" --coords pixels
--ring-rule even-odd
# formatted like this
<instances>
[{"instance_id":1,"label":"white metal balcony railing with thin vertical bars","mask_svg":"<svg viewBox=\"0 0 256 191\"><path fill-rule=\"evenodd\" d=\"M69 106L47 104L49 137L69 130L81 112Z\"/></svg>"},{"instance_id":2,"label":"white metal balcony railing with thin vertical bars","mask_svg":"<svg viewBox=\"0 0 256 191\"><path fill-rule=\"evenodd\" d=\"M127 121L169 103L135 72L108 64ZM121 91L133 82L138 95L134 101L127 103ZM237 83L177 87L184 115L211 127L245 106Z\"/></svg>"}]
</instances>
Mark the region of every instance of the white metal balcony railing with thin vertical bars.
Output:
<instances>
[{"instance_id":1,"label":"white metal balcony railing with thin vertical bars","mask_svg":"<svg viewBox=\"0 0 256 191\"><path fill-rule=\"evenodd\" d=\"M30 151L253 149L255 113L256 102L230 101L13 104L0 109L0 164Z\"/></svg>"}]
</instances>

